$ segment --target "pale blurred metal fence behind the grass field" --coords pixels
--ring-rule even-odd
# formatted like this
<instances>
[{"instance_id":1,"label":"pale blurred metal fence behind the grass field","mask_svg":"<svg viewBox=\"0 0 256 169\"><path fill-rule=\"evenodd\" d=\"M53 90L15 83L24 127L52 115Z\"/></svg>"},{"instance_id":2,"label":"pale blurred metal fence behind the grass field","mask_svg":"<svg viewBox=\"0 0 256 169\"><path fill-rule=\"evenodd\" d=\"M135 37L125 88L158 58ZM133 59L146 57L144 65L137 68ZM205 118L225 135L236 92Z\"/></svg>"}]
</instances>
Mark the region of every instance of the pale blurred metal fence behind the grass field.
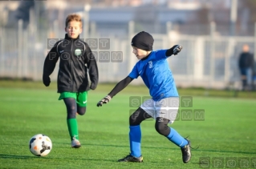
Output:
<instances>
[{"instance_id":1,"label":"pale blurred metal fence behind the grass field","mask_svg":"<svg viewBox=\"0 0 256 169\"><path fill-rule=\"evenodd\" d=\"M168 49L175 44L183 46L180 54L168 58L177 86L223 88L234 84L239 87L238 55L244 43L247 43L254 53L255 36L223 37L216 33L214 24L211 25L211 34L206 36L181 35L169 29L170 24L167 24L167 27L166 34L152 34L155 39L153 48ZM119 82L138 61L130 46L131 39L136 34L133 30L134 24L130 22L128 33L122 37L112 34L101 36L96 30L91 30L93 34L85 33L86 41L93 38L97 40L98 45L100 39L109 40L107 50L101 50L99 47L93 50L98 59L100 82ZM52 32L55 34L52 35ZM24 30L22 21L18 22L18 30L0 27L0 76L41 80L50 38L64 38L64 31L56 24L54 30L36 30L32 26ZM112 57L117 58L112 60ZM58 69L59 65L51 74L52 80L56 80ZM143 82L139 78L132 83Z\"/></svg>"}]
</instances>

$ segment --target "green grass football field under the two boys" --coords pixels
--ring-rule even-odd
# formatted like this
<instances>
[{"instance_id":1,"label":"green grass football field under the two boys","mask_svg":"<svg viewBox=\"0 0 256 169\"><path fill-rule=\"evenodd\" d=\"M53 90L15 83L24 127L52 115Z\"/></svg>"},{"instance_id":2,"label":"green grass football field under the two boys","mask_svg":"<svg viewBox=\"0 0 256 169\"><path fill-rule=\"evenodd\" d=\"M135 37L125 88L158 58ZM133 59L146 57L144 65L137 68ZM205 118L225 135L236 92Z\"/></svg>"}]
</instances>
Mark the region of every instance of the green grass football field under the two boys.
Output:
<instances>
[{"instance_id":1,"label":"green grass football field under the two boys","mask_svg":"<svg viewBox=\"0 0 256 169\"><path fill-rule=\"evenodd\" d=\"M204 109L205 120L180 119L172 125L184 137L189 135L192 147L199 146L187 164L182 163L180 148L155 131L152 119L141 124L144 163L118 163L117 159L129 153L128 117L133 109L129 97L148 96L145 88L128 87L104 107L95 105L114 85L89 91L87 113L77 117L82 147L72 149L66 108L58 100L55 83L50 88L7 83L0 82L0 168L200 168L207 167L199 164L207 158L211 168L230 167L226 166L229 158L236 160L234 168L256 164L256 100L252 98L192 95L193 109ZM39 133L48 135L53 143L46 157L29 151L30 137ZM216 166L216 159L223 160L221 166ZM240 163L242 159L249 160L250 166Z\"/></svg>"}]
</instances>

